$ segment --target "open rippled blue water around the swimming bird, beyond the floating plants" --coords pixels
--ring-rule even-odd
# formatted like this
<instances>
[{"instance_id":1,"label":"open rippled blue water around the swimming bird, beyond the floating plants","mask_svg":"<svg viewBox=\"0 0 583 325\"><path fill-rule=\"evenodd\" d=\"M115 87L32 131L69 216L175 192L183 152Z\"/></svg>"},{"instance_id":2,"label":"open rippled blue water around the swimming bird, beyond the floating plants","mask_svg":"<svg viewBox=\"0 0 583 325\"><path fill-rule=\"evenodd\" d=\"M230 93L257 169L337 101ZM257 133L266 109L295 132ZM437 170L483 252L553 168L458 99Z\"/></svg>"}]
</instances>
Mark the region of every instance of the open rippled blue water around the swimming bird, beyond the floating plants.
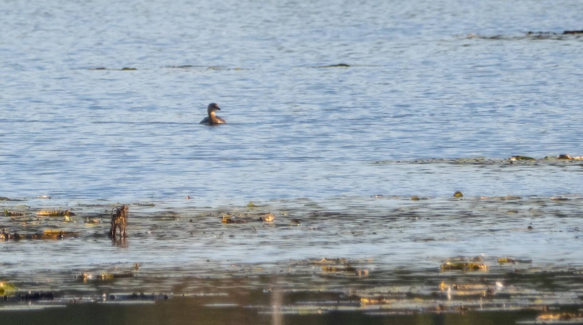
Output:
<instances>
[{"instance_id":1,"label":"open rippled blue water around the swimming bird, beyond the floating plants","mask_svg":"<svg viewBox=\"0 0 583 325\"><path fill-rule=\"evenodd\" d=\"M526 36L581 29L582 11L573 0L4 1L0 195L216 206L579 193L578 167L375 162L583 154L583 37ZM198 125L211 102L227 125Z\"/></svg>"}]
</instances>

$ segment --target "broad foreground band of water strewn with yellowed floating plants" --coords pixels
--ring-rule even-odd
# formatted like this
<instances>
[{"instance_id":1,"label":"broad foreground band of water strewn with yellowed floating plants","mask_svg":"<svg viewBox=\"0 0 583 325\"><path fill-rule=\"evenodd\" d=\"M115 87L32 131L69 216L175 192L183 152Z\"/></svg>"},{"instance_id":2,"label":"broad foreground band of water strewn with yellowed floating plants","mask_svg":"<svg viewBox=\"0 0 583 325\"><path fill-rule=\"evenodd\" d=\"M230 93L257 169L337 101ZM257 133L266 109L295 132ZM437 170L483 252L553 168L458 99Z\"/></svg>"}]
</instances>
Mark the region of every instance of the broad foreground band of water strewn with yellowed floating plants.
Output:
<instances>
[{"instance_id":1,"label":"broad foreground band of water strewn with yellowed floating plants","mask_svg":"<svg viewBox=\"0 0 583 325\"><path fill-rule=\"evenodd\" d=\"M249 324L338 315L556 323L583 313L578 195L130 202L127 238L107 235L120 203L37 202L0 206L2 319L51 307L148 315L188 306Z\"/></svg>"}]
</instances>

